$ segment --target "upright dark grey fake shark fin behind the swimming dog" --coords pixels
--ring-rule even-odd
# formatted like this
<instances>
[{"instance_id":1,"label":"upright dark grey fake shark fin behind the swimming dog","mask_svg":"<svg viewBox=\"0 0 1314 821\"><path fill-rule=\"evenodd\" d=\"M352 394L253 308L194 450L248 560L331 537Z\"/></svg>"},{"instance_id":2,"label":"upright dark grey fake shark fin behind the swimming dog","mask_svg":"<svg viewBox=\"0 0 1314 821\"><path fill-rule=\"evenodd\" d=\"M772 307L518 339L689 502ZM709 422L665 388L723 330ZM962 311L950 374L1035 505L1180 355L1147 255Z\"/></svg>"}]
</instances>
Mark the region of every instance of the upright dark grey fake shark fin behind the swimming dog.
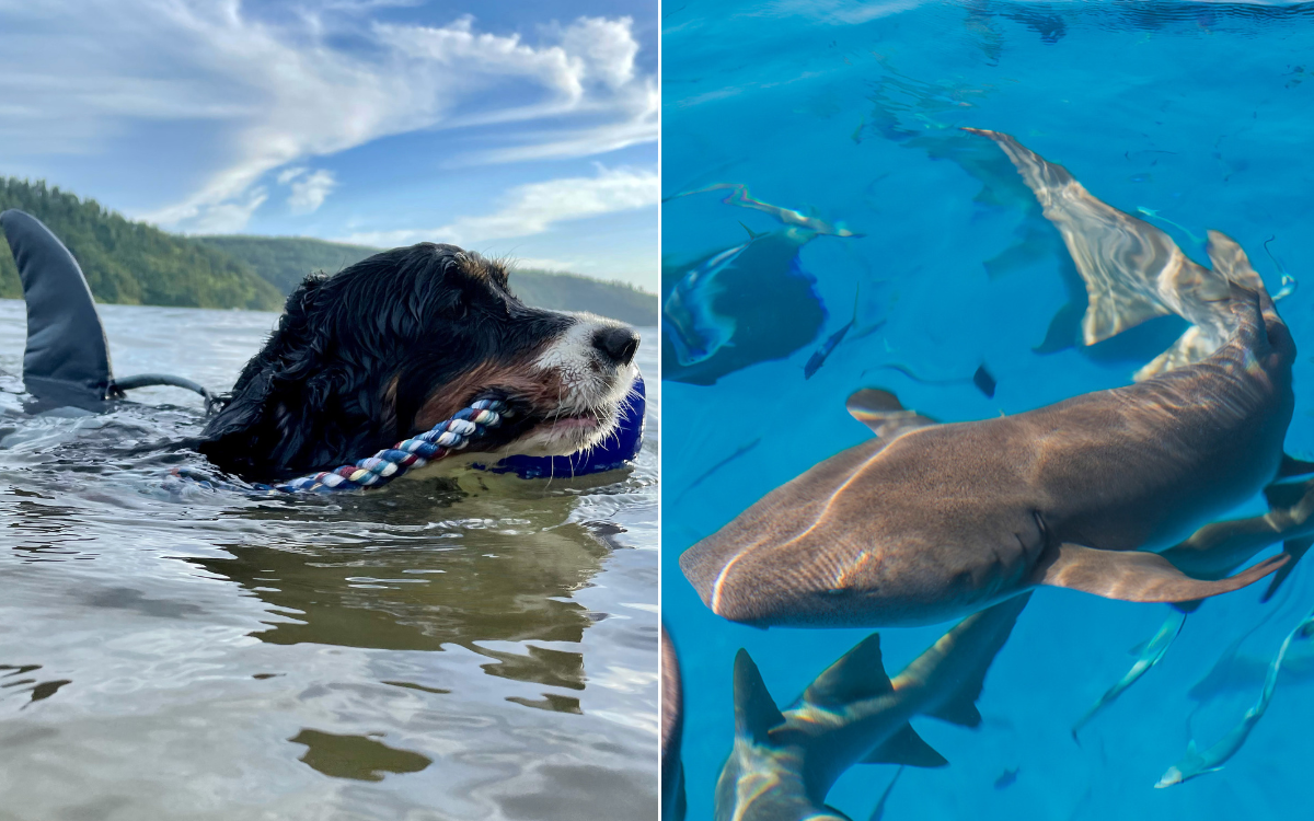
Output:
<instances>
[{"instance_id":1,"label":"upright dark grey fake shark fin behind the swimming dog","mask_svg":"<svg viewBox=\"0 0 1314 821\"><path fill-rule=\"evenodd\" d=\"M110 386L109 345L78 260L39 219L0 214L28 305L22 380L41 405L101 410Z\"/></svg>"}]
</instances>

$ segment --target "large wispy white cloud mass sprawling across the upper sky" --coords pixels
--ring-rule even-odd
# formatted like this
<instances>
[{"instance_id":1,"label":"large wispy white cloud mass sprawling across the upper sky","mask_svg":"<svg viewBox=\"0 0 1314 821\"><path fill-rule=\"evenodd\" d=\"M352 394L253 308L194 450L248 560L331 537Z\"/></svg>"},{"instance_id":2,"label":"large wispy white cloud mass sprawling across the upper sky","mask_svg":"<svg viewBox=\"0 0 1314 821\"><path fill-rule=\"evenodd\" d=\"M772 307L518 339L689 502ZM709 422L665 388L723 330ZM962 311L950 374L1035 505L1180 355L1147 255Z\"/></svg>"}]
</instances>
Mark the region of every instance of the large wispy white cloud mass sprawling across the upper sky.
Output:
<instances>
[{"instance_id":1,"label":"large wispy white cloud mass sprawling across the upper sky","mask_svg":"<svg viewBox=\"0 0 1314 821\"><path fill-rule=\"evenodd\" d=\"M16 156L93 154L142 120L205 121L215 146L197 151L210 163L201 180L137 214L201 231L250 215L254 192L280 168L284 185L294 171L310 175L292 198L314 210L332 185L311 184L306 163L381 137L531 126L453 162L585 156L657 138L656 83L636 68L627 17L547 26L531 43L481 32L472 17L361 20L386 4L328 1L272 24L239 0L0 0L0 100L28 113L0 122L0 144Z\"/></svg>"}]
</instances>

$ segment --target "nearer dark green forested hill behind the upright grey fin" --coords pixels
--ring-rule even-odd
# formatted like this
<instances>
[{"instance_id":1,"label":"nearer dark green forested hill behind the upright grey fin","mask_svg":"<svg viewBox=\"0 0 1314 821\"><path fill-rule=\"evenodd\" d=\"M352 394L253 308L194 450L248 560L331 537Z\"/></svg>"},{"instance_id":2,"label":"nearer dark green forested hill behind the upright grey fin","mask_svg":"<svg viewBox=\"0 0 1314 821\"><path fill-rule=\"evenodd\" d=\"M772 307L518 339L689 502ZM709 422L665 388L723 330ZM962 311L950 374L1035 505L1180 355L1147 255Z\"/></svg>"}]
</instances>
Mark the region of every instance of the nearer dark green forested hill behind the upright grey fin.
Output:
<instances>
[{"instance_id":1,"label":"nearer dark green forested hill behind the upright grey fin","mask_svg":"<svg viewBox=\"0 0 1314 821\"><path fill-rule=\"evenodd\" d=\"M95 200L43 181L0 177L0 211L28 211L72 251L101 302L279 310L283 296L227 254L131 222ZM18 268L0 234L0 297L22 298Z\"/></svg>"}]
</instances>

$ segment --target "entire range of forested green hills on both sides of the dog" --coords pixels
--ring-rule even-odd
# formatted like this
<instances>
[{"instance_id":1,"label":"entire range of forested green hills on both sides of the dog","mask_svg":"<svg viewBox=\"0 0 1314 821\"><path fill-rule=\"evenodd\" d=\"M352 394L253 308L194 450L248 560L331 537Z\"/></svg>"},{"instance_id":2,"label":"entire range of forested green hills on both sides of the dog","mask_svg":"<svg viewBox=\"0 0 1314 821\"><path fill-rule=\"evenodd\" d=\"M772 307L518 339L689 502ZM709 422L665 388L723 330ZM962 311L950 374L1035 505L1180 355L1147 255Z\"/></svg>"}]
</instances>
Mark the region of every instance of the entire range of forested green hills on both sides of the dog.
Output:
<instances>
[{"instance_id":1,"label":"entire range of forested green hills on both sides of the dog","mask_svg":"<svg viewBox=\"0 0 1314 821\"><path fill-rule=\"evenodd\" d=\"M43 181L0 177L0 211L28 211L72 251L100 302L277 311L313 271L335 273L378 252L301 236L180 236L133 222ZM657 297L622 282L514 271L530 305L657 323ZM0 234L0 298L22 298L18 269Z\"/></svg>"}]
</instances>

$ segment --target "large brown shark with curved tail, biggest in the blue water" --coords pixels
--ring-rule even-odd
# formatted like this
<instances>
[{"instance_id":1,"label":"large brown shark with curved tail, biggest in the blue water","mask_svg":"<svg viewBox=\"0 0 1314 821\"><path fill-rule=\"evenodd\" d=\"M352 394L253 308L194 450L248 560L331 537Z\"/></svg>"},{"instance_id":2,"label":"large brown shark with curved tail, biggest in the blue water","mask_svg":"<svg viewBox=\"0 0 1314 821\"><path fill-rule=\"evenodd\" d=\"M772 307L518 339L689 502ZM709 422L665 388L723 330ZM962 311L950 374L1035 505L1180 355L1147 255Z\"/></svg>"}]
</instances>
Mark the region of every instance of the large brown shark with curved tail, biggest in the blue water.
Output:
<instances>
[{"instance_id":1,"label":"large brown shark with curved tail, biggest in the blue water","mask_svg":"<svg viewBox=\"0 0 1314 821\"><path fill-rule=\"evenodd\" d=\"M1095 201L1060 167L1031 158L1060 193ZM1104 213L1091 213L1102 225ZM1131 318L1126 327L1177 307L1204 330L1188 328L1138 384L1014 416L940 424L887 391L853 394L849 410L875 439L773 490L681 556L704 604L758 627L917 625L1041 585L1175 603L1282 566L1285 554L1205 579L1158 554L1314 465L1282 453L1296 344L1244 251L1210 233L1212 269L1184 264L1180 251L1127 254L1159 247L1142 226L1151 227L1068 223L1089 229L1079 247L1120 285L1112 307ZM1194 558L1210 564L1208 552Z\"/></svg>"}]
</instances>

